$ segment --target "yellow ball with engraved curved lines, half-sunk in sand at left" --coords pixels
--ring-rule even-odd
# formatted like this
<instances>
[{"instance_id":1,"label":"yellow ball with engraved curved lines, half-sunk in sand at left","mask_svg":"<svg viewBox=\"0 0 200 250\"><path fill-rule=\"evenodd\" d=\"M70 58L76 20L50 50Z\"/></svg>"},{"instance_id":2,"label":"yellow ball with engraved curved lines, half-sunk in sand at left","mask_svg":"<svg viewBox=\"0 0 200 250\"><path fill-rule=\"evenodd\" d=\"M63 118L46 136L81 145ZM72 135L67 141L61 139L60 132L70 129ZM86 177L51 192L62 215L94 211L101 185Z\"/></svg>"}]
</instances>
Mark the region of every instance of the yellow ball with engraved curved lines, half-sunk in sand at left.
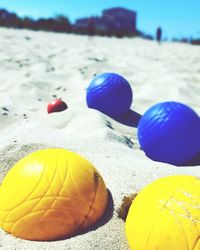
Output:
<instances>
[{"instance_id":1,"label":"yellow ball with engraved curved lines, half-sunk in sand at left","mask_svg":"<svg viewBox=\"0 0 200 250\"><path fill-rule=\"evenodd\" d=\"M21 159L0 187L0 227L29 240L70 236L104 213L108 193L98 171L64 149Z\"/></svg>"}]
</instances>

